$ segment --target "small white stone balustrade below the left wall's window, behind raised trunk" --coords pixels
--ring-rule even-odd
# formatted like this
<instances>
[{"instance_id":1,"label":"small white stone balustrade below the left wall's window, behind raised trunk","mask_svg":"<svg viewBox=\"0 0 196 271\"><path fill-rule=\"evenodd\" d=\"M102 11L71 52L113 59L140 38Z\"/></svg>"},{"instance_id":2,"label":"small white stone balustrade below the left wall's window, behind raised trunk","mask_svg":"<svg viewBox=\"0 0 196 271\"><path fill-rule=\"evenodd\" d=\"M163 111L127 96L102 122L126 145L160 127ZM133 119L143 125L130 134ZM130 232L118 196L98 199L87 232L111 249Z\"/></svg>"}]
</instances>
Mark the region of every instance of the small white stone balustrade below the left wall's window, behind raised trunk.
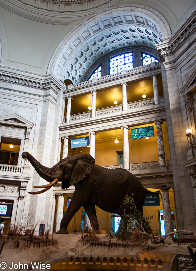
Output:
<instances>
[{"instance_id":1,"label":"small white stone balustrade below the left wall's window, behind raised trunk","mask_svg":"<svg viewBox=\"0 0 196 271\"><path fill-rule=\"evenodd\" d=\"M4 165L0 164L0 175L18 176L29 175L29 166Z\"/></svg>"}]
</instances>

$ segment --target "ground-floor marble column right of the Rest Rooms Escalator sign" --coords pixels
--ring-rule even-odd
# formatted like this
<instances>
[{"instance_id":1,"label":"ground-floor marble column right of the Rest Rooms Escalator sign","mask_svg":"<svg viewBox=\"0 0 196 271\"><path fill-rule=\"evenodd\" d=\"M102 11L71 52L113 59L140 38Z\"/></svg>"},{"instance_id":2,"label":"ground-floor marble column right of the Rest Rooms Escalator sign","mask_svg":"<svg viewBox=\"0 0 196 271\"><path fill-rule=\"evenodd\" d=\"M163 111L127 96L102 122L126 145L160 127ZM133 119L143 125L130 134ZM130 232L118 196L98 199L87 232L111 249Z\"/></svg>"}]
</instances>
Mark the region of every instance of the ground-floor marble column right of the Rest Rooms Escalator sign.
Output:
<instances>
[{"instance_id":1,"label":"ground-floor marble column right of the Rest Rooms Escalator sign","mask_svg":"<svg viewBox=\"0 0 196 271\"><path fill-rule=\"evenodd\" d=\"M171 207L169 202L169 187L161 188L162 203L163 203L163 219L165 224L165 234L173 232L172 219L171 219ZM168 236L173 238L173 235Z\"/></svg>"}]
</instances>

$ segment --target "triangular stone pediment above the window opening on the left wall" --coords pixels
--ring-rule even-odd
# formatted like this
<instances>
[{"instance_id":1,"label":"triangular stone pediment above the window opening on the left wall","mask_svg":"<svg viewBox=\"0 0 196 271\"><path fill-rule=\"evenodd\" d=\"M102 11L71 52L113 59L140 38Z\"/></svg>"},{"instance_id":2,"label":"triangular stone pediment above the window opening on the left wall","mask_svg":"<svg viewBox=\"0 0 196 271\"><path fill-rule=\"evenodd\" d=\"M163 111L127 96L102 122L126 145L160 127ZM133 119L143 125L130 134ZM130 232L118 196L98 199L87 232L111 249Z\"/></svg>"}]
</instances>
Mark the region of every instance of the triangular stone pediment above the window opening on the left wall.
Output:
<instances>
[{"instance_id":1,"label":"triangular stone pediment above the window opening on the left wall","mask_svg":"<svg viewBox=\"0 0 196 271\"><path fill-rule=\"evenodd\" d=\"M0 124L32 128L33 123L18 114L10 114L0 117Z\"/></svg>"}]
</instances>

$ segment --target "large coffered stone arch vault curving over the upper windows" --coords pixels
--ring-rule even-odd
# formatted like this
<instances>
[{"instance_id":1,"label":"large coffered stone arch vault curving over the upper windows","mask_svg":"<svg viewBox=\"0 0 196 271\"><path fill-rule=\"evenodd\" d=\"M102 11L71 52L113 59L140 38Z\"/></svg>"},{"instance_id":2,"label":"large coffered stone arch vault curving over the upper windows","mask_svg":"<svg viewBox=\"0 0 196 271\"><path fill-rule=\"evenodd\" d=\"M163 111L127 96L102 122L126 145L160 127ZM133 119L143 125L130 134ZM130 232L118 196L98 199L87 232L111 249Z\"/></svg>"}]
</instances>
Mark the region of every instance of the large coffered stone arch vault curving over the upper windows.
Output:
<instances>
[{"instance_id":1,"label":"large coffered stone arch vault curving over the upper windows","mask_svg":"<svg viewBox=\"0 0 196 271\"><path fill-rule=\"evenodd\" d=\"M87 19L64 38L54 52L47 72L61 80L85 74L104 55L122 47L154 48L170 35L166 20L141 5L108 9Z\"/></svg>"}]
</instances>

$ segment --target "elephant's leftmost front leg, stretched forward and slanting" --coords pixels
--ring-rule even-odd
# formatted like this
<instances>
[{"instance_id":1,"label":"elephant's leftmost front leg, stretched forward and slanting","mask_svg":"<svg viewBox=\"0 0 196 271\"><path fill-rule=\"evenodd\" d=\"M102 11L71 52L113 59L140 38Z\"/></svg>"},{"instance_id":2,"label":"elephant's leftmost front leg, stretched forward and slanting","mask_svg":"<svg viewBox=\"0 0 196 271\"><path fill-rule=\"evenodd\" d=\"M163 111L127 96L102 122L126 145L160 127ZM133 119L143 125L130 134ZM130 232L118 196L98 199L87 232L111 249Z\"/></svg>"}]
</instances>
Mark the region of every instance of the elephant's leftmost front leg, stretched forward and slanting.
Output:
<instances>
[{"instance_id":1,"label":"elephant's leftmost front leg, stretched forward and slanting","mask_svg":"<svg viewBox=\"0 0 196 271\"><path fill-rule=\"evenodd\" d=\"M72 217L75 215L75 213L82 207L82 205L85 203L84 199L81 198L81 191L76 191L73 194L73 197L70 201L70 204L67 208L67 211L64 214L64 217L62 218L60 222L60 230L56 232L56 234L68 234L67 226L70 223Z\"/></svg>"}]
</instances>

